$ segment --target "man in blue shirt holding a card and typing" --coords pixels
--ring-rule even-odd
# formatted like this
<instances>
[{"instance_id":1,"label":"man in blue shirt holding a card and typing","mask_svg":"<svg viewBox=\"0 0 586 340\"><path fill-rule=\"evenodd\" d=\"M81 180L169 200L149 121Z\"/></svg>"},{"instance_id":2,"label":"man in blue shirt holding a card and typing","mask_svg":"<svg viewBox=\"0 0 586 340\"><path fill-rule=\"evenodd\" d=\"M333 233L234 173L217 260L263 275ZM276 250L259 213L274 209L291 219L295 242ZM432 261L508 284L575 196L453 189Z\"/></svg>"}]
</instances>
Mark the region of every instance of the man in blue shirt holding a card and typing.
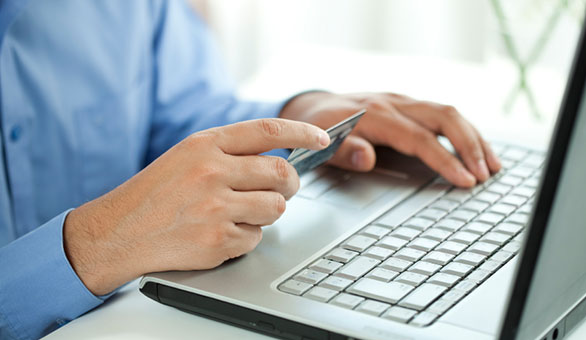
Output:
<instances>
[{"instance_id":1,"label":"man in blue shirt holding a card and typing","mask_svg":"<svg viewBox=\"0 0 586 340\"><path fill-rule=\"evenodd\" d=\"M449 106L382 93L238 100L183 1L4 0L0 39L2 339L38 338L144 273L251 251L299 187L283 158L259 154L324 148L318 127L359 109L336 166L368 171L380 144L459 186L500 168Z\"/></svg>"}]
</instances>

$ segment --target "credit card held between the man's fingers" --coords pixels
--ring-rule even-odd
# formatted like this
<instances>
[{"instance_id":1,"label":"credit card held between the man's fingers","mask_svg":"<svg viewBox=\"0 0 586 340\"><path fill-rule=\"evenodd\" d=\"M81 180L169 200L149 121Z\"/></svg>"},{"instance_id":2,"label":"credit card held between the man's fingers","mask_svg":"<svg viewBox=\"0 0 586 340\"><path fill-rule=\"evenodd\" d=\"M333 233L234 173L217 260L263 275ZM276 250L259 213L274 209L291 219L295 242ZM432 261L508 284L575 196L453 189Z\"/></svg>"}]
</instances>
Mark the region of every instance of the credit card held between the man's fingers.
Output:
<instances>
[{"instance_id":1,"label":"credit card held between the man's fingers","mask_svg":"<svg viewBox=\"0 0 586 340\"><path fill-rule=\"evenodd\" d=\"M326 132L330 136L330 145L327 148L323 150L297 148L291 152L287 161L295 167L299 176L327 162L338 151L340 144L352 132L352 129L358 124L358 120L365 113L366 110L359 111L327 129Z\"/></svg>"}]
</instances>

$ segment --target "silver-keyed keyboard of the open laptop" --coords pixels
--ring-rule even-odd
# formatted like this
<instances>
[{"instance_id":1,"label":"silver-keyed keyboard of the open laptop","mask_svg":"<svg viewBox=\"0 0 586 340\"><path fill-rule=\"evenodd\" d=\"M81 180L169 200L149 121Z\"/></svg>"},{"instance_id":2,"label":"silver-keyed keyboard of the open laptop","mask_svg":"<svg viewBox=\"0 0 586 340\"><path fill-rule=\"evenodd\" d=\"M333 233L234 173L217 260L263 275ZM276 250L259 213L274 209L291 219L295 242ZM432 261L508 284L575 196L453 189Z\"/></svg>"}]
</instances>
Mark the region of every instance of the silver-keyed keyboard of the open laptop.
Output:
<instances>
[{"instance_id":1,"label":"silver-keyed keyboard of the open laptop","mask_svg":"<svg viewBox=\"0 0 586 340\"><path fill-rule=\"evenodd\" d=\"M428 326L513 258L521 246L542 153L495 146L503 169L445 193L396 224L383 214L278 286L282 292Z\"/></svg>"}]
</instances>

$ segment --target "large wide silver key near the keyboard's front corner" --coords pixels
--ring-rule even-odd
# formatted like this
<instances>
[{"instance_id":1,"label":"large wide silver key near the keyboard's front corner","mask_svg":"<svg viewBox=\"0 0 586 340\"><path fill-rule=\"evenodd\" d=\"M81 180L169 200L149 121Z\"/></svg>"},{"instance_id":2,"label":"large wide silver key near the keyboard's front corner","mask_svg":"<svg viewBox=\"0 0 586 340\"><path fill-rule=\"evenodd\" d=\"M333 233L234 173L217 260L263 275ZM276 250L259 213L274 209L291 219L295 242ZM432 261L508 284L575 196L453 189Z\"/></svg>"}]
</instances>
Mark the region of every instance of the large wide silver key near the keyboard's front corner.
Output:
<instances>
[{"instance_id":1,"label":"large wide silver key near the keyboard's front corner","mask_svg":"<svg viewBox=\"0 0 586 340\"><path fill-rule=\"evenodd\" d=\"M407 295L413 286L399 282L381 282L373 279L361 279L347 289L349 293L388 303L397 303Z\"/></svg>"}]
</instances>

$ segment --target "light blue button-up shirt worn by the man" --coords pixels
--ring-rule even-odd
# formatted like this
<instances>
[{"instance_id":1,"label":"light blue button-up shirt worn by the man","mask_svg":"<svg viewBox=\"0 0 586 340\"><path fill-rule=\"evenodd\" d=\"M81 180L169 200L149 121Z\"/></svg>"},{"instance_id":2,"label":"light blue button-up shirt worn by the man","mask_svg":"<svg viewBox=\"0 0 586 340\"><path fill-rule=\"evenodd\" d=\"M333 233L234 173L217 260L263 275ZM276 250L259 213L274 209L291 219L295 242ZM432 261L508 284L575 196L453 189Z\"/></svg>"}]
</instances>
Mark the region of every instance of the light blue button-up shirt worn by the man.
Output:
<instances>
[{"instance_id":1,"label":"light blue button-up shirt worn by the man","mask_svg":"<svg viewBox=\"0 0 586 340\"><path fill-rule=\"evenodd\" d=\"M67 212L190 133L276 116L239 100L180 0L0 0L0 338L95 308L63 249Z\"/></svg>"}]
</instances>

